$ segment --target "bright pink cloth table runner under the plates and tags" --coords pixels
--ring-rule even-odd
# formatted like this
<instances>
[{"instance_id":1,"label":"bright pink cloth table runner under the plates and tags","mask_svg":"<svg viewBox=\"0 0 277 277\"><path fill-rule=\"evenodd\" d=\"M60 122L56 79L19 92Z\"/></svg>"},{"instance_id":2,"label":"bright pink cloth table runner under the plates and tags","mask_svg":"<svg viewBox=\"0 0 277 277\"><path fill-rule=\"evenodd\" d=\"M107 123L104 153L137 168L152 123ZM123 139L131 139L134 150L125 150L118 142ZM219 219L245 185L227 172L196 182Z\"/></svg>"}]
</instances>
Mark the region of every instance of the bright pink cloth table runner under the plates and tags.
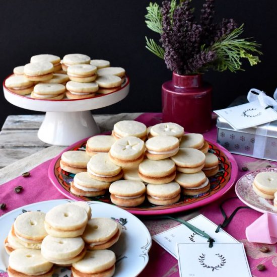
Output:
<instances>
[{"instance_id":1,"label":"bright pink cloth table runner under the plates and tags","mask_svg":"<svg viewBox=\"0 0 277 277\"><path fill-rule=\"evenodd\" d=\"M160 122L160 113L145 113L139 116L136 120L145 123L146 125L153 125ZM214 127L211 131L204 134L206 138L216 141L217 129ZM247 164L249 169L258 167L258 160L250 157L234 155L238 167L239 176L241 177L245 172L241 171L243 165ZM48 179L48 167L51 160L42 163L30 171L29 177L19 176L0 186L0 203L6 203L7 209L0 210L0 216L7 212L10 212L17 207L44 201L51 199L62 199L64 196L58 192ZM276 163L271 163L274 166ZM254 166L254 167L253 167ZM256 166L256 167L255 167ZM15 193L14 188L16 186L23 186L21 193ZM224 198L235 196L234 189L231 189ZM223 199L206 205L200 209L200 213L215 222L220 224L223 222L222 214L219 210L219 204ZM244 205L238 198L228 201L225 205L225 211L227 215L230 215L237 206ZM188 214L188 213L186 213ZM182 214L180 214L182 216ZM276 245L266 245L269 248L268 253L262 253L258 250L263 246L257 243L249 243L245 237L245 228L250 225L254 220L260 217L261 214L250 209L240 210L233 221L229 224L225 230L231 234L234 238L244 243L248 261L250 264L251 272L253 276L276 276L277 275L277 249ZM157 221L155 225L159 225ZM151 230L150 230L151 231ZM157 243L153 242L153 246L149 253L150 261L142 272L141 276L152 277L177 277L179 276L178 262L168 252L166 252ZM263 263L266 266L265 271L258 271L256 266L259 263Z\"/></svg>"}]
</instances>

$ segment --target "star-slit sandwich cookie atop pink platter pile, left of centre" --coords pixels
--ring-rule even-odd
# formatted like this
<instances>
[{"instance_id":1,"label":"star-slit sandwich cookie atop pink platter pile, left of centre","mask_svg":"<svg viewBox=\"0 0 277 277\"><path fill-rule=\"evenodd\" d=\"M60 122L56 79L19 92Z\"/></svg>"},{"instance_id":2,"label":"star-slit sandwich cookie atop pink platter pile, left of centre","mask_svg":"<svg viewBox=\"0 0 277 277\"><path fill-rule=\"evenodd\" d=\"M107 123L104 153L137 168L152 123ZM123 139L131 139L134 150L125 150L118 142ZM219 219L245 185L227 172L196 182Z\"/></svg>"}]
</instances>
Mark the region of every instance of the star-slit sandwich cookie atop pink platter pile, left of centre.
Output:
<instances>
[{"instance_id":1,"label":"star-slit sandwich cookie atop pink platter pile, left of centre","mask_svg":"<svg viewBox=\"0 0 277 277\"><path fill-rule=\"evenodd\" d=\"M135 168L144 159L144 141L136 136L119 138L109 151L110 160L122 168Z\"/></svg>"}]
</instances>

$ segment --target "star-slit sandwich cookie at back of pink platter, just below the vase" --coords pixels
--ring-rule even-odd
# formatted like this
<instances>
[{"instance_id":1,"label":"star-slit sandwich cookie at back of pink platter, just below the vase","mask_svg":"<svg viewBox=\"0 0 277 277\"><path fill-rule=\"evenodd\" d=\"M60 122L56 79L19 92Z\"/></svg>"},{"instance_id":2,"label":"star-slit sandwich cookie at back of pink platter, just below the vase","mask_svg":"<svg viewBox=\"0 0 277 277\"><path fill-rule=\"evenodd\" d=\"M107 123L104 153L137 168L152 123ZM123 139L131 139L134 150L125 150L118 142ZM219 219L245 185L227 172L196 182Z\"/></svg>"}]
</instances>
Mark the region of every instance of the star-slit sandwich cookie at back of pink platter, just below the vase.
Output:
<instances>
[{"instance_id":1,"label":"star-slit sandwich cookie at back of pink platter, just below the vase","mask_svg":"<svg viewBox=\"0 0 277 277\"><path fill-rule=\"evenodd\" d=\"M181 139L184 134L184 128L172 122L159 123L152 126L150 133L152 136L169 135Z\"/></svg>"}]
</instances>

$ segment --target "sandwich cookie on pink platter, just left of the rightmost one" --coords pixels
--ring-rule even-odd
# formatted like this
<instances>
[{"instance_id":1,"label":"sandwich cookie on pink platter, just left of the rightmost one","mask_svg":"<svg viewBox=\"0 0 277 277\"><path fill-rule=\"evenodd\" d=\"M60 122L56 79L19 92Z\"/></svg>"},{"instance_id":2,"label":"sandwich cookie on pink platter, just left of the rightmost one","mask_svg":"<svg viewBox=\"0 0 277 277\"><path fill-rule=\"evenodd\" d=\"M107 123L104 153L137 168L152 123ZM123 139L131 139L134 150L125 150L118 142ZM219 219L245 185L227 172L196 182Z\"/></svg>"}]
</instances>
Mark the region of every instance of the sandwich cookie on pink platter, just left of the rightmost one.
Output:
<instances>
[{"instance_id":1,"label":"sandwich cookie on pink platter, just left of the rightmost one","mask_svg":"<svg viewBox=\"0 0 277 277\"><path fill-rule=\"evenodd\" d=\"M177 170L183 173L196 173L205 165L205 154L194 148L180 148L170 159L175 162Z\"/></svg>"}]
</instances>

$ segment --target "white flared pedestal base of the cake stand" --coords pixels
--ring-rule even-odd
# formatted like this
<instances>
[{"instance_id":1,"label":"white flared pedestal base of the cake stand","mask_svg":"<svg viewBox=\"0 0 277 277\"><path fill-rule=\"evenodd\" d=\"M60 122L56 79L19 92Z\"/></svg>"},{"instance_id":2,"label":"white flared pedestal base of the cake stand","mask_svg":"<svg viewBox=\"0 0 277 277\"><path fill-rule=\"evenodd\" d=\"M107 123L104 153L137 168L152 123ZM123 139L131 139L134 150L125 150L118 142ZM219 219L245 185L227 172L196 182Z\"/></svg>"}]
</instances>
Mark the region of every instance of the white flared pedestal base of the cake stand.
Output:
<instances>
[{"instance_id":1,"label":"white flared pedestal base of the cake stand","mask_svg":"<svg viewBox=\"0 0 277 277\"><path fill-rule=\"evenodd\" d=\"M46 112L38 138L47 144L69 146L99 132L90 111Z\"/></svg>"}]
</instances>

